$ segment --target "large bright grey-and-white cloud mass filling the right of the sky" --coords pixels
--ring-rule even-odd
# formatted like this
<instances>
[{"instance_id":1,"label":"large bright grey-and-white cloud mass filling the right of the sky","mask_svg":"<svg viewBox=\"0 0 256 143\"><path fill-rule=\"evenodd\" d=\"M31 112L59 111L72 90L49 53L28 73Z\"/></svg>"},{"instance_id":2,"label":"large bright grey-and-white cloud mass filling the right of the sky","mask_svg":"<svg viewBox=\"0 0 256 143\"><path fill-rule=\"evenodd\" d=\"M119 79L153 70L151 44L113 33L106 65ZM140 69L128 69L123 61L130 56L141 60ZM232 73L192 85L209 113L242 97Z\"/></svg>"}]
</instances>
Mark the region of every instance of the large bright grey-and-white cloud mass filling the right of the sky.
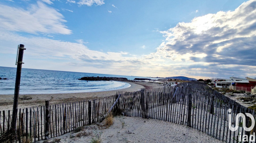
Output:
<instances>
[{"instance_id":1,"label":"large bright grey-and-white cloud mass filling the right of the sky","mask_svg":"<svg viewBox=\"0 0 256 143\"><path fill-rule=\"evenodd\" d=\"M196 17L189 23L180 22L161 32L166 40L151 56L164 59L164 63L179 63L187 73L255 75L243 69L256 70L255 13L256 1L250 0L234 11L220 11Z\"/></svg>"}]
</instances>

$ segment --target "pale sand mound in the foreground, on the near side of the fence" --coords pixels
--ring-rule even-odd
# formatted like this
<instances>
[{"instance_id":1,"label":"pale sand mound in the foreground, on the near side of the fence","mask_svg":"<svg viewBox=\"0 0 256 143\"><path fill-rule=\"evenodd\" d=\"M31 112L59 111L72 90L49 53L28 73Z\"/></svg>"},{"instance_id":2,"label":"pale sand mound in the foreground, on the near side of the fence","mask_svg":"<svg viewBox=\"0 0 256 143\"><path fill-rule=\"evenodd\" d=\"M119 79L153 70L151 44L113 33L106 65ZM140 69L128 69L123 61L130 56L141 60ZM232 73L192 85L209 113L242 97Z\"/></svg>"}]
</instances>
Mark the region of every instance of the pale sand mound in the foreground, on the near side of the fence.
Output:
<instances>
[{"instance_id":1,"label":"pale sand mound in the foreground, on the near side of the fence","mask_svg":"<svg viewBox=\"0 0 256 143\"><path fill-rule=\"evenodd\" d=\"M84 126L80 132L71 132L39 142L50 143L57 140L62 143L90 142L96 130L98 133L102 132L103 143L221 143L201 131L184 125L126 116L114 117L114 124L109 128L105 128L103 121L97 125Z\"/></svg>"}]
</instances>

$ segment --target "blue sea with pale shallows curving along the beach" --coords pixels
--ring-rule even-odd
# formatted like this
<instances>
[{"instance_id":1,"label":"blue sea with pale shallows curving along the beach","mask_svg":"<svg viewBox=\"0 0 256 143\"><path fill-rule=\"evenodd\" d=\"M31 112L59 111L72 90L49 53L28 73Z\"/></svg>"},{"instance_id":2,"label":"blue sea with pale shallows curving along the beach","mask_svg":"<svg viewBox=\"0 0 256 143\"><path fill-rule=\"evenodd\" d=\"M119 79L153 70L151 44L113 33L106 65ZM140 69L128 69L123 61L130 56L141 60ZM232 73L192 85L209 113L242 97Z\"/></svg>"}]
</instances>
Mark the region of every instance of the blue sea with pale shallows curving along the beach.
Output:
<instances>
[{"instance_id":1,"label":"blue sea with pale shallows curving along the beach","mask_svg":"<svg viewBox=\"0 0 256 143\"><path fill-rule=\"evenodd\" d=\"M0 95L14 94L16 68L1 67ZM22 68L19 94L56 94L56 93L81 93L120 90L131 85L120 81L85 81L78 80L82 77L124 77L129 80L134 78L149 78L138 76L122 76L95 73L65 72L57 70ZM158 78L149 78L158 79Z\"/></svg>"}]
</instances>

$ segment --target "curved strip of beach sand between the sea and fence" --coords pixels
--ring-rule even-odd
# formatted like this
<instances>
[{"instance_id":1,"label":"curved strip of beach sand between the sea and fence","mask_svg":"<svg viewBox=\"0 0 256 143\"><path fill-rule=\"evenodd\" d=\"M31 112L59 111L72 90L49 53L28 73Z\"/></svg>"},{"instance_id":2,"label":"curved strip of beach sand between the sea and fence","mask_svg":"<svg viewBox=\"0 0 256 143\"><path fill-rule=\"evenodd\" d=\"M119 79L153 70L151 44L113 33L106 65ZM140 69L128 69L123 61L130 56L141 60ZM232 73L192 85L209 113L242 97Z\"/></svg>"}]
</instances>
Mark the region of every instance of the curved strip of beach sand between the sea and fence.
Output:
<instances>
[{"instance_id":1,"label":"curved strip of beach sand between the sea and fence","mask_svg":"<svg viewBox=\"0 0 256 143\"><path fill-rule=\"evenodd\" d=\"M159 83L144 82L144 81L134 81L129 82L131 86L129 88L112 90L112 91L102 91L102 92L85 92L85 93L61 93L61 94L21 94L19 95L18 109L24 109L27 107L43 106L45 101L49 100L52 104L62 104L67 102L75 102L81 100L96 99L101 97L107 97L115 95L116 92L133 92L139 91L142 88L154 89L163 87ZM7 111L13 108L13 98L14 95L0 95L0 111Z\"/></svg>"}]
</instances>

